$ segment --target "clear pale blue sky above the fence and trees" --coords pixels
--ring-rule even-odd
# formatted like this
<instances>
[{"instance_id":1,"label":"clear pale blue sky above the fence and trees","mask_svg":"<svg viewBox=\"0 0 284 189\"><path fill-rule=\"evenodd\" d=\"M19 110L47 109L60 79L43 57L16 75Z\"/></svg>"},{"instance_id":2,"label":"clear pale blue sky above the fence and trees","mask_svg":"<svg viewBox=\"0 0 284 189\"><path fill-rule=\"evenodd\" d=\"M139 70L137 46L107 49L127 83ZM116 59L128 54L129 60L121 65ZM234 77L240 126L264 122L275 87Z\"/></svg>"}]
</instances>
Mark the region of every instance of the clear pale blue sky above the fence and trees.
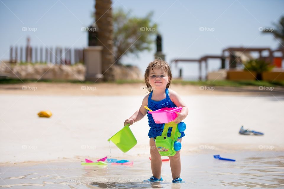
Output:
<instances>
[{"instance_id":1,"label":"clear pale blue sky above the fence and trees","mask_svg":"<svg viewBox=\"0 0 284 189\"><path fill-rule=\"evenodd\" d=\"M93 23L94 0L0 0L0 59L9 59L11 45L25 46L30 36L37 47L87 47L87 32L81 27ZM167 62L177 58L199 59L204 55L221 55L227 47L270 47L280 44L272 34L262 34L259 27L274 27L284 16L284 1L127 1L113 0L112 8L130 11L133 17L154 12L152 23L162 35ZM22 31L22 27L36 31ZM204 30L200 29L203 27ZM31 29L35 30L35 29ZM127 55L122 63L136 65L144 72L153 61L156 47ZM209 71L220 68L219 60L209 60ZM198 77L197 63L172 66L174 76L183 69L184 79ZM204 69L203 69L204 73Z\"/></svg>"}]
</instances>

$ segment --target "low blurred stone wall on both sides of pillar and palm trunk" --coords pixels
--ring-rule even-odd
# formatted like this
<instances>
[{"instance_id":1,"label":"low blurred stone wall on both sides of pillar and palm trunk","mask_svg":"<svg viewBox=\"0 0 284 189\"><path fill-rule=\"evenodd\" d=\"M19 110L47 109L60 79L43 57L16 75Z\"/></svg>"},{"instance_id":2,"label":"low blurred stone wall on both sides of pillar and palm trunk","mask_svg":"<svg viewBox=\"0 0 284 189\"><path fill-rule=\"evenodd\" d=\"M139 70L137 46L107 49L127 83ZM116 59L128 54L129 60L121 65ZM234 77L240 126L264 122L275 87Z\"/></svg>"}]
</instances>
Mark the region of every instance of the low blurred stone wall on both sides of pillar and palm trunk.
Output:
<instances>
[{"instance_id":1,"label":"low blurred stone wall on both sides of pillar and palm trunk","mask_svg":"<svg viewBox=\"0 0 284 189\"><path fill-rule=\"evenodd\" d=\"M133 67L112 65L115 80L141 79L140 70ZM40 80L85 80L86 68L83 64L10 64L0 63L0 77Z\"/></svg>"}]
</instances>

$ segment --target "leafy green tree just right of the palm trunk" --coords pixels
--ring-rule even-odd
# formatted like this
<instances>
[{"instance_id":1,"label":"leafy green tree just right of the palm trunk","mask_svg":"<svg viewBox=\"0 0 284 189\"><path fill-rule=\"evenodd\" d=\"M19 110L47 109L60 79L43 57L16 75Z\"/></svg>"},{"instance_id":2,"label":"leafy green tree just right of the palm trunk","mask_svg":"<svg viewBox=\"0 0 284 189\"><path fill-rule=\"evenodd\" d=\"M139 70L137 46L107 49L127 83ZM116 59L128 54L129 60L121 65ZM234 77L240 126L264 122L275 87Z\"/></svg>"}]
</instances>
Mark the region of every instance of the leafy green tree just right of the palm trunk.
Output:
<instances>
[{"instance_id":1,"label":"leafy green tree just right of the palm trunk","mask_svg":"<svg viewBox=\"0 0 284 189\"><path fill-rule=\"evenodd\" d=\"M115 63L120 63L122 56L151 50L154 36L157 34L157 24L152 24L153 12L145 17L135 17L128 11L117 9L112 14L113 44ZM99 28L100 29L100 28Z\"/></svg>"}]
</instances>

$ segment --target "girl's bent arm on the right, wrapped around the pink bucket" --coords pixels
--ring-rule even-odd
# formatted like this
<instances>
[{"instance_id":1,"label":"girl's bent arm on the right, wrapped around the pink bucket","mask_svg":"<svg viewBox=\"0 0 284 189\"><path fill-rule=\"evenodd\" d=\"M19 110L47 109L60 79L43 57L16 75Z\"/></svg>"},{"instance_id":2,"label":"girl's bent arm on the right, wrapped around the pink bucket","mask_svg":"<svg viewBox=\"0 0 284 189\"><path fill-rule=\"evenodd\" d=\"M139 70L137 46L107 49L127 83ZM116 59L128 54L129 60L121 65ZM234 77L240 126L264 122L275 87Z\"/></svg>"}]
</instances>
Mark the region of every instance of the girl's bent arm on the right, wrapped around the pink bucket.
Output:
<instances>
[{"instance_id":1,"label":"girl's bent arm on the right, wrapped around the pink bucket","mask_svg":"<svg viewBox=\"0 0 284 189\"><path fill-rule=\"evenodd\" d=\"M176 117L173 122L175 122L176 124L180 123L183 119L186 118L186 116L188 115L188 107L185 105L185 103L183 102L183 100L180 98L180 96L178 95L178 93L176 93L175 91L171 90L171 98L172 98L172 102L175 103L176 106L181 106L183 107L183 109L180 112L176 112L178 114L178 117Z\"/></svg>"}]
</instances>

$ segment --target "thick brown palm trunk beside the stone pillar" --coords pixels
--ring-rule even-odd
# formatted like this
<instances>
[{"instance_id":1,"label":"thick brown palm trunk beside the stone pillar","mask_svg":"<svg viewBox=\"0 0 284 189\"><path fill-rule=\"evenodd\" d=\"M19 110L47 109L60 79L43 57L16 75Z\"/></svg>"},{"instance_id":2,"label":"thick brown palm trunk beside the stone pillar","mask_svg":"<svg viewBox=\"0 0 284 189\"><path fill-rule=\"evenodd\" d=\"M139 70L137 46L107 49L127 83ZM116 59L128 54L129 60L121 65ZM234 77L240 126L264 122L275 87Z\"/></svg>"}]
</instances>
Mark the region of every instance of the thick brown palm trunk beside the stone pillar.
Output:
<instances>
[{"instance_id":1,"label":"thick brown palm trunk beside the stone pillar","mask_svg":"<svg viewBox=\"0 0 284 189\"><path fill-rule=\"evenodd\" d=\"M102 72L104 80L114 80L112 64L113 56L113 25L112 25L112 1L95 0L96 24L98 26L98 45L102 50Z\"/></svg>"}]
</instances>

